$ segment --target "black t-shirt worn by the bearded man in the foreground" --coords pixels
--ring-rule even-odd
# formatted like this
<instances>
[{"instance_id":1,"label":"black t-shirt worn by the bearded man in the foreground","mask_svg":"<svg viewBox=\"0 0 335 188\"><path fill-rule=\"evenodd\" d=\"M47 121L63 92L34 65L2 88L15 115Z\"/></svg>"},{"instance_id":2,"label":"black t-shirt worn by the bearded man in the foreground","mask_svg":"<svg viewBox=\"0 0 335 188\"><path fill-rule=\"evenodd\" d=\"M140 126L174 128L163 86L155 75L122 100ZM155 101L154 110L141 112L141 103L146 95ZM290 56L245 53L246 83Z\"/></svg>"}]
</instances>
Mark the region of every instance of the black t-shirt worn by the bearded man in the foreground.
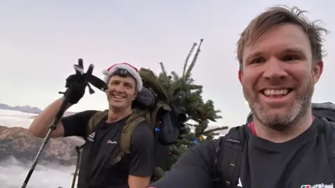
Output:
<instances>
[{"instance_id":1,"label":"black t-shirt worn by the bearded man in the foreground","mask_svg":"<svg viewBox=\"0 0 335 188\"><path fill-rule=\"evenodd\" d=\"M321 123L315 118L308 130L285 143L249 136L242 159L241 187L333 187L335 169L329 164L325 136L318 136ZM335 127L325 131L335 135ZM248 132L251 133L250 130ZM214 142L218 141L220 139L191 148L178 160L172 171L149 187L213 187L214 177L210 172L214 168ZM221 173L223 171L221 169Z\"/></svg>"}]
</instances>

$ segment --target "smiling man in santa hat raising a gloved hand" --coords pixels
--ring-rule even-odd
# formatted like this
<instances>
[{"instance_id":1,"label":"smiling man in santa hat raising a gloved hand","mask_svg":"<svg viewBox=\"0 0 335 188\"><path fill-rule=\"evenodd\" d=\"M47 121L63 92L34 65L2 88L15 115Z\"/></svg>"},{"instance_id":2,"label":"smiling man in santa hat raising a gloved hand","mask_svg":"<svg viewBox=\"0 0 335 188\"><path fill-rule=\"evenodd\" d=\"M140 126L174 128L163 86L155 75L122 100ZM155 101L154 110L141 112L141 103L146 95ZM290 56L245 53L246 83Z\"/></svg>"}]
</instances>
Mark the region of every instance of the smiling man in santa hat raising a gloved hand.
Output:
<instances>
[{"instance_id":1,"label":"smiling man in santa hat raising a gloved hand","mask_svg":"<svg viewBox=\"0 0 335 188\"><path fill-rule=\"evenodd\" d=\"M82 150L78 188L144 188L149 184L153 170L154 135L142 121L131 134L131 152L117 164L110 161L120 151L120 137L128 118L133 114L132 103L142 90L142 79L137 69L128 63L118 63L103 71L107 83L109 109L93 132L87 132L91 118L98 111L82 111L61 119L52 137L81 136L86 140ZM76 104L84 95L86 84L81 76L68 77L70 104ZM47 107L31 123L29 132L44 137L48 125L61 107L59 99ZM93 121L93 120L92 120Z\"/></svg>"}]
</instances>

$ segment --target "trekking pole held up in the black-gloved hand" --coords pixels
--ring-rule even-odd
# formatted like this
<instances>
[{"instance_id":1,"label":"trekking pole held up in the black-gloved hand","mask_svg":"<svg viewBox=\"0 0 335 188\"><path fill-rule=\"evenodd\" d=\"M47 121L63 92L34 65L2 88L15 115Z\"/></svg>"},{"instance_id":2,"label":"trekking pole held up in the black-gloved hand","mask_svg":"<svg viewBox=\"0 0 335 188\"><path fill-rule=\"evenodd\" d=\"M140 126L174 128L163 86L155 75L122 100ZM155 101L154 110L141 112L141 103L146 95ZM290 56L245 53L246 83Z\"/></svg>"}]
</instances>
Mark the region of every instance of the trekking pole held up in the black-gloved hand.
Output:
<instances>
[{"instance_id":1,"label":"trekking pole held up in the black-gloved hand","mask_svg":"<svg viewBox=\"0 0 335 188\"><path fill-rule=\"evenodd\" d=\"M83 66L83 63L82 63L82 59L81 59L81 58L78 60L78 65L75 65L74 67L75 67L76 72L79 72L79 73L82 74L82 75L84 74L84 73L83 73L84 66ZM94 68L94 65L92 65L92 64L89 65L89 69L87 70L86 74L83 75L83 76L85 76L85 77L93 77L93 78L90 78L90 79L93 79L93 80L95 81L94 86L96 86L96 84L98 84L96 87L99 88L99 89L101 89L101 90L103 91L103 90L106 89L107 86L104 86L104 85L103 85L103 84L105 84L103 81L99 81L99 80L97 80L98 78L96 78L96 77L94 77L93 75L91 75L92 72L93 72L93 68ZM92 84L93 84L93 83L92 83ZM89 86L89 81L87 82L87 85ZM89 90L90 93L93 94L94 91L93 91L90 87L89 87L89 89L90 89L90 90ZM59 92L59 93L62 93L62 92ZM30 168L30 170L29 170L29 173L27 174L27 177L26 177L26 179L25 179L24 182L23 182L22 188L27 187L27 184L28 184L28 182L29 182L29 179L31 178L31 175L33 174L33 172L34 172L34 170L35 170L35 167L36 167L36 165L37 165L37 163L38 163L38 158L40 157L40 153L41 153L42 150L45 148L47 142L50 140L50 137L51 137L52 132L53 132L54 130L57 129L57 125L58 125L59 121L61 120L61 118L63 117L64 112L66 111L66 107L68 107L69 102L68 102L68 97L66 97L66 93L67 93L67 92L65 92L65 94L62 93L62 94L64 94L64 100L63 100L63 102L61 103L61 107L59 108L59 111L57 112L57 115L54 117L54 120L52 120L52 123L51 123L51 125L50 125L50 127L49 127L49 130L48 130L48 132L47 132L47 135L46 135L45 138L44 138L44 141L43 141L43 143L42 143L42 146L40 146L40 149L39 149L38 152L37 152L37 155L36 155L36 157L35 157L35 159L34 159L34 162L33 162L33 164L31 165L31 168Z\"/></svg>"}]
</instances>

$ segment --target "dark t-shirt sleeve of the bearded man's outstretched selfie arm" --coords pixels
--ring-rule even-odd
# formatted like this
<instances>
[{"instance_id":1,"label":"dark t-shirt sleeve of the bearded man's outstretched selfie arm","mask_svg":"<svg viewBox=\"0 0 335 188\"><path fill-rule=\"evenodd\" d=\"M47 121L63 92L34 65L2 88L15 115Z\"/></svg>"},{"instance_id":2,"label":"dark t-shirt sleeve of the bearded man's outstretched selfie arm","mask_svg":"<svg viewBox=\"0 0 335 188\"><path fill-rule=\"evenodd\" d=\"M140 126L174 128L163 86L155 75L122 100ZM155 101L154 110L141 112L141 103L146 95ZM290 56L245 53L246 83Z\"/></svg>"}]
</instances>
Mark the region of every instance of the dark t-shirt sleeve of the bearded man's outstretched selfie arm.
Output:
<instances>
[{"instance_id":1,"label":"dark t-shirt sleeve of the bearded man's outstretched selfie arm","mask_svg":"<svg viewBox=\"0 0 335 188\"><path fill-rule=\"evenodd\" d=\"M214 141L207 141L185 152L171 171L148 187L153 188L211 188L211 169L214 166Z\"/></svg>"}]
</instances>

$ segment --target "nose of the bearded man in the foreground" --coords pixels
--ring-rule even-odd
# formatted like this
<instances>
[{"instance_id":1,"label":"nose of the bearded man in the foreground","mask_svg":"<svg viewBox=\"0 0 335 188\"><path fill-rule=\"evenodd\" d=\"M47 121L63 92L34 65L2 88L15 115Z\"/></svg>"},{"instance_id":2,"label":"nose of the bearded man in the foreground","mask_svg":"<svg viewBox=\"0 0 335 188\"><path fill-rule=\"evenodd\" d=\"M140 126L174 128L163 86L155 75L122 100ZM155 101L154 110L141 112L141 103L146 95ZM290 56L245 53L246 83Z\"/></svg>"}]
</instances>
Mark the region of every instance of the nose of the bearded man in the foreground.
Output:
<instances>
[{"instance_id":1,"label":"nose of the bearded man in the foreground","mask_svg":"<svg viewBox=\"0 0 335 188\"><path fill-rule=\"evenodd\" d=\"M285 71L285 62L278 58L271 58L265 64L265 71L263 77L266 79L285 79L288 77L288 72Z\"/></svg>"}]
</instances>

